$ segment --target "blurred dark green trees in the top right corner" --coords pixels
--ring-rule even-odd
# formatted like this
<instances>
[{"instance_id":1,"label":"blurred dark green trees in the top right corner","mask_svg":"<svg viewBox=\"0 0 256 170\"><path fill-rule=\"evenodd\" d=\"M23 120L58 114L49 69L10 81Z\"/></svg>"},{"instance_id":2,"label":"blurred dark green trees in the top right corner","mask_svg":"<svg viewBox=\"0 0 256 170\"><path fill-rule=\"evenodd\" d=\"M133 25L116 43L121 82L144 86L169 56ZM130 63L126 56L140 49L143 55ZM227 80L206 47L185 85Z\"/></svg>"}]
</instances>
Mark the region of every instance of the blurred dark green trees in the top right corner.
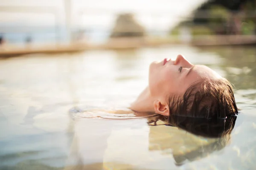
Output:
<instances>
[{"instance_id":1,"label":"blurred dark green trees in the top right corner","mask_svg":"<svg viewBox=\"0 0 256 170\"><path fill-rule=\"evenodd\" d=\"M253 33L244 31L242 26L248 24L242 23L251 22L249 29L255 28L256 16L251 15L255 9L256 0L208 0L194 11L192 24L209 25L215 34Z\"/></svg>"}]
</instances>

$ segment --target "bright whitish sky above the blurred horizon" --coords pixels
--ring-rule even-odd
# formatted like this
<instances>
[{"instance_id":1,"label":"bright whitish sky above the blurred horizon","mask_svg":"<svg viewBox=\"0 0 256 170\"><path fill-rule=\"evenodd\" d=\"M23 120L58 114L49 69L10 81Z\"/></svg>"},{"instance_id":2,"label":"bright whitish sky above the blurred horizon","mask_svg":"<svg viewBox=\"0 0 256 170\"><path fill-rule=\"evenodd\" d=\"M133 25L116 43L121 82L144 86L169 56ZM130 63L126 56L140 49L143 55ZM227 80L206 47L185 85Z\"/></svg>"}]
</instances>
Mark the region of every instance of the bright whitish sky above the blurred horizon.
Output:
<instances>
[{"instance_id":1,"label":"bright whitish sky above the blurred horizon","mask_svg":"<svg viewBox=\"0 0 256 170\"><path fill-rule=\"evenodd\" d=\"M0 23L54 26L65 24L66 0L0 0ZM70 0L73 26L113 27L116 14L132 12L146 29L166 31L205 0ZM8 6L9 9L3 8ZM12 12L16 6L20 12ZM22 9L23 7L23 9ZM24 9L24 7L26 7ZM38 13L33 7L41 7ZM45 12L44 12L45 11ZM48 12L47 12L48 11ZM53 12L51 12L53 11Z\"/></svg>"}]
</instances>

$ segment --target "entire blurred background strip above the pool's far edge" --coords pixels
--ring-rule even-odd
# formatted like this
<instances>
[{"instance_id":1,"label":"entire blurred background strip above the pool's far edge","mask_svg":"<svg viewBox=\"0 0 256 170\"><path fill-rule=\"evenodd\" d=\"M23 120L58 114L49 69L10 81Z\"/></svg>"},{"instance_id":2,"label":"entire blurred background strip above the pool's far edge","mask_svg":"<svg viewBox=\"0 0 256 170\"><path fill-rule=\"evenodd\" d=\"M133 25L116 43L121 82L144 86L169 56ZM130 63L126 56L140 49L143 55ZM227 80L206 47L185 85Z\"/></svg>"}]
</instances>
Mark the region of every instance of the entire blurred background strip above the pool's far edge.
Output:
<instances>
[{"instance_id":1,"label":"entire blurred background strip above the pool's far edge","mask_svg":"<svg viewBox=\"0 0 256 170\"><path fill-rule=\"evenodd\" d=\"M255 0L0 0L0 55L255 43Z\"/></svg>"}]
</instances>

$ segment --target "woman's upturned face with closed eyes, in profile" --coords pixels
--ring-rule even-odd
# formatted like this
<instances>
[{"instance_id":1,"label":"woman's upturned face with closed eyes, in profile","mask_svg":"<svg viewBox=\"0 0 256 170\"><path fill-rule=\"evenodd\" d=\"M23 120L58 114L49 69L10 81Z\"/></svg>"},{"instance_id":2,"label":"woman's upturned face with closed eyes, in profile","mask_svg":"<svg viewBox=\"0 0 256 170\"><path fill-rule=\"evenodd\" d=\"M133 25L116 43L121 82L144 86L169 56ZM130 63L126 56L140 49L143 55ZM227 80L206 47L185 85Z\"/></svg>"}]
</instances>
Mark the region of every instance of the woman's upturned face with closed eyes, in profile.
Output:
<instances>
[{"instance_id":1,"label":"woman's upturned face with closed eyes, in profile","mask_svg":"<svg viewBox=\"0 0 256 170\"><path fill-rule=\"evenodd\" d=\"M195 81L204 78L218 79L221 76L204 65L193 65L182 55L176 60L164 59L152 62L149 67L149 90L153 97L183 94Z\"/></svg>"}]
</instances>

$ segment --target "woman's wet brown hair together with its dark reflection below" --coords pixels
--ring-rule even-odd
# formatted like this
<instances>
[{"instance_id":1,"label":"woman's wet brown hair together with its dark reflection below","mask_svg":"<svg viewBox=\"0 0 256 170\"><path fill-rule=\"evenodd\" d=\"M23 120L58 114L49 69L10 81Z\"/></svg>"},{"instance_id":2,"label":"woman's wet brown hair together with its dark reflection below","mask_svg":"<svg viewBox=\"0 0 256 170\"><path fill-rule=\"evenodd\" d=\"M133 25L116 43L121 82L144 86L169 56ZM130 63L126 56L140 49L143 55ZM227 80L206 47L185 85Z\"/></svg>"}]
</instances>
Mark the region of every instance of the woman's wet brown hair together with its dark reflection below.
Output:
<instances>
[{"instance_id":1,"label":"woman's wet brown hair together with its dark reflection below","mask_svg":"<svg viewBox=\"0 0 256 170\"><path fill-rule=\"evenodd\" d=\"M230 134L236 121L233 88L227 79L204 79L195 82L183 95L169 97L166 125L179 127L205 137ZM168 120L168 121L167 121Z\"/></svg>"}]
</instances>

